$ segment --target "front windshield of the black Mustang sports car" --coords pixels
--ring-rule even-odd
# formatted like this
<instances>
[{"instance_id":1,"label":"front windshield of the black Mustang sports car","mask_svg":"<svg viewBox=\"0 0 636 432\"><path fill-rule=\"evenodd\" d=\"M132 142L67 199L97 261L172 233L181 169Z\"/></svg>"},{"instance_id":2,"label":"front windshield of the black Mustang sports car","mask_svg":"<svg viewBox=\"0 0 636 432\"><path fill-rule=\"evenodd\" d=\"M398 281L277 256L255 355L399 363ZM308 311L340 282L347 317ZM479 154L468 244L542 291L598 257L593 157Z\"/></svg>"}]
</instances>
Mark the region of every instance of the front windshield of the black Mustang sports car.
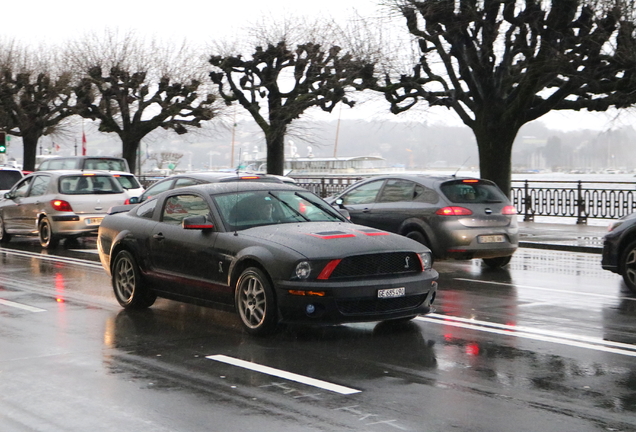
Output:
<instances>
[{"instance_id":1,"label":"front windshield of the black Mustang sports car","mask_svg":"<svg viewBox=\"0 0 636 432\"><path fill-rule=\"evenodd\" d=\"M310 192L249 191L213 196L229 230L297 222L346 221Z\"/></svg>"}]
</instances>

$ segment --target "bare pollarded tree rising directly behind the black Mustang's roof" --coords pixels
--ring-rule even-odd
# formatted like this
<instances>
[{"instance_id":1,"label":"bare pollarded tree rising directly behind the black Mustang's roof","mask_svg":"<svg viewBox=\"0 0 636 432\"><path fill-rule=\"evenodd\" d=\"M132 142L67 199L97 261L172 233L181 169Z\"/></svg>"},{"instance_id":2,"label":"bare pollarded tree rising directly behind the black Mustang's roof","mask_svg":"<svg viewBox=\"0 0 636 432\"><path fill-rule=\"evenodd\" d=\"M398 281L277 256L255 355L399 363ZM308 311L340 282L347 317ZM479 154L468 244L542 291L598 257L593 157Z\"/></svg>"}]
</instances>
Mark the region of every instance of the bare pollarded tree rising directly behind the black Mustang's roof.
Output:
<instances>
[{"instance_id":1,"label":"bare pollarded tree rising directly behind the black Mustang's roof","mask_svg":"<svg viewBox=\"0 0 636 432\"><path fill-rule=\"evenodd\" d=\"M340 102L353 106L347 93L371 86L374 79L372 62L343 53L338 45L317 43L324 37L318 37L316 26L289 23L258 32L263 43L250 57L227 52L210 57L210 78L226 104L237 101L263 131L272 174L283 173L285 135L295 119L313 107L331 112ZM301 38L309 42L294 48L290 41Z\"/></svg>"}]
</instances>

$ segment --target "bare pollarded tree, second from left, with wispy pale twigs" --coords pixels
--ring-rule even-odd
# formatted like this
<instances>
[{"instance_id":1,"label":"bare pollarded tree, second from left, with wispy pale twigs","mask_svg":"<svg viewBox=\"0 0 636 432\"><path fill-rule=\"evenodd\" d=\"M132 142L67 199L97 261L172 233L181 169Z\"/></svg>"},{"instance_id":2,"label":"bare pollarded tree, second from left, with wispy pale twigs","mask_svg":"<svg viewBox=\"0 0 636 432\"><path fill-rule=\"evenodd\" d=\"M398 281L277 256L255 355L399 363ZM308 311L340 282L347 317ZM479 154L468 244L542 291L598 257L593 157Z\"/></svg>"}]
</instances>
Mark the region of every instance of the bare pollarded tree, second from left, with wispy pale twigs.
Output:
<instances>
[{"instance_id":1,"label":"bare pollarded tree, second from left, with wispy pale twigs","mask_svg":"<svg viewBox=\"0 0 636 432\"><path fill-rule=\"evenodd\" d=\"M185 42L165 45L107 31L71 44L67 58L84 72L75 87L78 114L119 136L133 172L139 144L150 132L184 134L216 115L215 97L204 83L205 62Z\"/></svg>"}]
</instances>

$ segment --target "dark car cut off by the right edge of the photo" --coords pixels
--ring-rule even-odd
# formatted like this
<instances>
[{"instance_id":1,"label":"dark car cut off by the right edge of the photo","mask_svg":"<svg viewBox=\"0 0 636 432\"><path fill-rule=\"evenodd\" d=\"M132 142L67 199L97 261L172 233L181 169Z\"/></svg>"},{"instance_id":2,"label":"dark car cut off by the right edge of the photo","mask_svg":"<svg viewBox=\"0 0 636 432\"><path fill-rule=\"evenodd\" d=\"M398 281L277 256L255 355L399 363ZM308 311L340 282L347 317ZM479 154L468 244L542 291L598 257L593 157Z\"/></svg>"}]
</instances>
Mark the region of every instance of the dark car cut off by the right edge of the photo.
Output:
<instances>
[{"instance_id":1,"label":"dark car cut off by the right edge of the photo","mask_svg":"<svg viewBox=\"0 0 636 432\"><path fill-rule=\"evenodd\" d=\"M612 222L608 229L601 266L623 276L625 285L636 294L636 213Z\"/></svg>"}]
</instances>

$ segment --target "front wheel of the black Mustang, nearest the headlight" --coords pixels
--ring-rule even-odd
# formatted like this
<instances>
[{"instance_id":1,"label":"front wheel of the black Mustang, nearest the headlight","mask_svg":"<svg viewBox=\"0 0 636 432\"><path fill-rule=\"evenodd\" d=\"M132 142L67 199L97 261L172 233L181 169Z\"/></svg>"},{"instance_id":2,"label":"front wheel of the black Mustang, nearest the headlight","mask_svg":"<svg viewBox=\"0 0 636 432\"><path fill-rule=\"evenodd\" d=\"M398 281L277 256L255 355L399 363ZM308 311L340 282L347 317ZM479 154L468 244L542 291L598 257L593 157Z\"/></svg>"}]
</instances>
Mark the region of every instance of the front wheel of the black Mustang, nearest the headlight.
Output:
<instances>
[{"instance_id":1,"label":"front wheel of the black Mustang, nearest the headlight","mask_svg":"<svg viewBox=\"0 0 636 432\"><path fill-rule=\"evenodd\" d=\"M241 323L248 333L263 336L276 327L274 291L262 270L250 267L241 273L236 282L235 302Z\"/></svg>"}]
</instances>

